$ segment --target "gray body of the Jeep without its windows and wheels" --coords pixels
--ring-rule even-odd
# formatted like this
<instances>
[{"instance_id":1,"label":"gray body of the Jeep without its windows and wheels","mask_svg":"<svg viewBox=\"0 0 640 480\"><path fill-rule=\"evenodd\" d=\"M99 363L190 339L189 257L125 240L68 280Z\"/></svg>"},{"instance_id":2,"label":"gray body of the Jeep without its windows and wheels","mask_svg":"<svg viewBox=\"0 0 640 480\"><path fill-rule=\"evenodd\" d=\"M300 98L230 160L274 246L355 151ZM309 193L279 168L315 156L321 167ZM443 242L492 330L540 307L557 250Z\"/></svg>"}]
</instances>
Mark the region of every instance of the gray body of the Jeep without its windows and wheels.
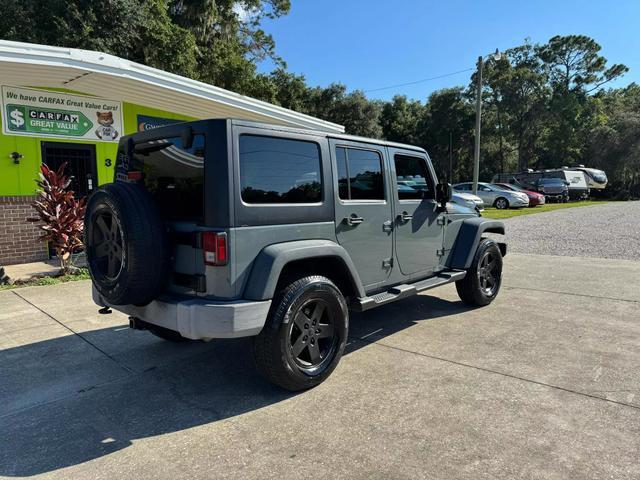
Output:
<instances>
[{"instance_id":1,"label":"gray body of the Jeep without its windows and wheels","mask_svg":"<svg viewBox=\"0 0 640 480\"><path fill-rule=\"evenodd\" d=\"M336 273L348 277L359 299L371 300L392 289L406 293L411 284L444 278L447 271L459 279L461 272L451 271L469 267L482 234L504 233L502 222L481 218L475 210L450 205L445 211L438 206L432 193L437 182L432 162L424 149L411 145L249 121L207 120L134 134L125 137L119 148L162 138L163 130L166 135L179 136L181 129L210 135L206 144L205 219L202 224L174 222L170 227L195 235L202 231L226 233L228 263L205 265L197 241L178 244L174 273L205 279L203 291L173 288L167 292L173 297L164 295L144 307L113 308L177 330L187 338L257 334L266 321L280 275L291 262L337 259L341 271ZM244 203L239 186L239 139L245 134L316 143L322 169L321 202ZM384 200L339 198L335 150L340 146L380 155ZM425 162L432 191L425 198L400 200L395 155ZM362 222L348 225L345 219L351 215L362 217ZM106 305L104 299L94 299Z\"/></svg>"}]
</instances>

